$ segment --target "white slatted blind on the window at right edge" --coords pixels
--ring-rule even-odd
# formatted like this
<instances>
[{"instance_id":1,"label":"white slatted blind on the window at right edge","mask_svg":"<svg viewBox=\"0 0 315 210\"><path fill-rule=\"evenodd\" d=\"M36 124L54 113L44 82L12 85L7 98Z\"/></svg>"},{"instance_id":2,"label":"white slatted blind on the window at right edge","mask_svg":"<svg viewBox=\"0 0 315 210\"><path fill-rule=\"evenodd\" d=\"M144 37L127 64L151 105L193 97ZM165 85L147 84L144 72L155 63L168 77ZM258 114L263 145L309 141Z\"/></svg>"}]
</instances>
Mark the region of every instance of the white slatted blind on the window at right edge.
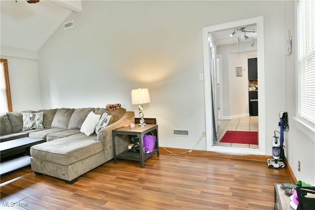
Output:
<instances>
[{"instance_id":1,"label":"white slatted blind on the window at right edge","mask_svg":"<svg viewBox=\"0 0 315 210\"><path fill-rule=\"evenodd\" d=\"M315 0L298 1L298 115L315 125Z\"/></svg>"}]
</instances>

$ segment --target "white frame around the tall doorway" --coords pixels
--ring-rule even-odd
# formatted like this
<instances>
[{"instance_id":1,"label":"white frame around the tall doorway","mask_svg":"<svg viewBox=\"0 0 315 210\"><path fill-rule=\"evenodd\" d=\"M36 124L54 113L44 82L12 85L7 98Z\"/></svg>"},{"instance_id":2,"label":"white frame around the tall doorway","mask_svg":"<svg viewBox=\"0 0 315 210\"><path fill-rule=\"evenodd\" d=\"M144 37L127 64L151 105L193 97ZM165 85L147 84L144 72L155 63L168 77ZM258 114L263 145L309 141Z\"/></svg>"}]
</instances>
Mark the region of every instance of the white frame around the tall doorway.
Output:
<instances>
[{"instance_id":1,"label":"white frame around the tall doorway","mask_svg":"<svg viewBox=\"0 0 315 210\"><path fill-rule=\"evenodd\" d=\"M203 38L203 74L204 74L204 92L205 92L205 114L206 114L206 133L216 132L212 128L212 102L211 102L211 60L210 60L210 44L209 44L209 33L211 31L233 29L240 26L246 26L256 24L257 25L257 79L259 82L258 92L258 145L259 149L249 148L231 148L231 147L220 147L213 146L213 135L206 136L206 147L207 151L217 151L226 153L237 153L237 154L259 154L266 155L266 131L265 131L265 71L264 71L264 27L263 27L263 16L234 21L215 26L204 27L202 29Z\"/></svg>"}]
</instances>

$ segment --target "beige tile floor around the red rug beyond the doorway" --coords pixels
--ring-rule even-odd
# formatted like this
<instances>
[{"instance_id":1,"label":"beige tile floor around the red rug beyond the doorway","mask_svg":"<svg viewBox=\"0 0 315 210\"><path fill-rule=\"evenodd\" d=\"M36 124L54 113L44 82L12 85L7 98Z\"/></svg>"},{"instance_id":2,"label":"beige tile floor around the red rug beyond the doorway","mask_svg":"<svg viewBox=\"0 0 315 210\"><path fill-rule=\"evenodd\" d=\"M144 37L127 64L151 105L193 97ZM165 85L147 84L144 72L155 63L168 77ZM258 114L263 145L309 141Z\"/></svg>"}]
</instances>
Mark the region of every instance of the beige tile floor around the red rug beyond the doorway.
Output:
<instances>
[{"instance_id":1,"label":"beige tile floor around the red rug beyond the doorway","mask_svg":"<svg viewBox=\"0 0 315 210\"><path fill-rule=\"evenodd\" d=\"M233 120L221 120L219 123L218 129L217 129L218 141L215 143L215 146L221 146L221 147L237 147L237 148L258 149L258 145L221 143L220 140L224 136L224 134L227 130L231 130L231 131L258 131L258 116L237 118L237 119L233 119Z\"/></svg>"}]
</instances>

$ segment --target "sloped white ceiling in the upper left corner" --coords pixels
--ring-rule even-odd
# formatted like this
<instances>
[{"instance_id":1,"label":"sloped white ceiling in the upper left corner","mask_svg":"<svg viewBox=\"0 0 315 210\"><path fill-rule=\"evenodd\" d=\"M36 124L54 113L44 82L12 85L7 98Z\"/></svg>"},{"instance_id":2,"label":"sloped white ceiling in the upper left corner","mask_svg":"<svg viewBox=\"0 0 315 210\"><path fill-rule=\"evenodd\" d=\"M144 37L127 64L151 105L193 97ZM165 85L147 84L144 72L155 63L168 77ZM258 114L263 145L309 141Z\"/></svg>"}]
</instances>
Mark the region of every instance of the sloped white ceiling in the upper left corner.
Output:
<instances>
[{"instance_id":1,"label":"sloped white ceiling in the upper left corner","mask_svg":"<svg viewBox=\"0 0 315 210\"><path fill-rule=\"evenodd\" d=\"M38 51L81 0L0 0L1 46Z\"/></svg>"}]
</instances>

